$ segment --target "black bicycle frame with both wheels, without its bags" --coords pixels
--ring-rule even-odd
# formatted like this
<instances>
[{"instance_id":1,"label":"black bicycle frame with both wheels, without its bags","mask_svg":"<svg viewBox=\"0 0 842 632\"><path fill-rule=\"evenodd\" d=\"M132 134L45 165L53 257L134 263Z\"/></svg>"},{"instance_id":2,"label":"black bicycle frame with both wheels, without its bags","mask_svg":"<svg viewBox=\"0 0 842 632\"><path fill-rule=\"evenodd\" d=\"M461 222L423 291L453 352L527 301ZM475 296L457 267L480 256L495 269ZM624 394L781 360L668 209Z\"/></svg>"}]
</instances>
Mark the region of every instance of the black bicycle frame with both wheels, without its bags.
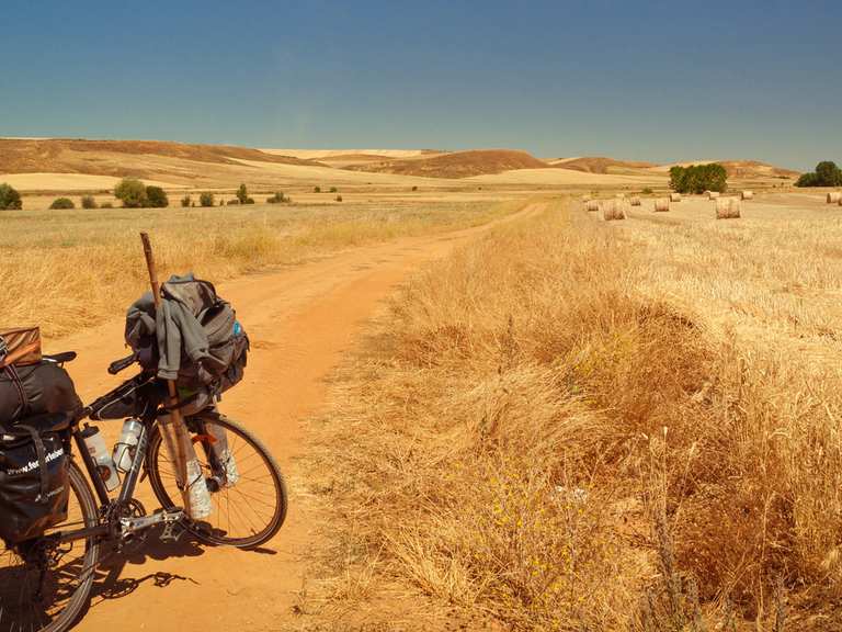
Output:
<instances>
[{"instance_id":1,"label":"black bicycle frame with both wheels, without its bags","mask_svg":"<svg viewBox=\"0 0 842 632\"><path fill-rule=\"evenodd\" d=\"M49 357L58 363L75 358L72 351ZM116 374L136 360L135 354L117 360L109 366L109 372ZM177 506L173 497L180 497L180 492L167 450L161 450L158 416L163 408L152 396L155 384L155 375L141 371L77 414L52 416L50 426L42 428L60 432L65 452L70 455L67 520L44 535L15 546L8 548L0 541L0 632L64 632L72 627L88 602L94 571L103 561L103 548L111 544L113 551L118 552L147 537L153 527L161 527L158 538L162 541L177 541L184 533L191 533L210 545L254 549L272 539L283 526L287 494L281 470L255 437L215 407L185 416L194 445L202 447L196 455L214 511L207 519L194 521ZM80 424L98 418L98 410L113 403L127 386L145 398L143 414L136 417L143 427L132 465L118 494L111 498L96 463L86 449ZM214 429L214 425L218 428ZM219 429L225 430L229 454L237 464L235 484L228 479L232 477L228 465L221 463L213 450ZM75 459L77 452L71 451L72 443L78 448L81 466ZM134 497L143 477L149 478L161 505L152 514L147 514Z\"/></svg>"}]
</instances>

